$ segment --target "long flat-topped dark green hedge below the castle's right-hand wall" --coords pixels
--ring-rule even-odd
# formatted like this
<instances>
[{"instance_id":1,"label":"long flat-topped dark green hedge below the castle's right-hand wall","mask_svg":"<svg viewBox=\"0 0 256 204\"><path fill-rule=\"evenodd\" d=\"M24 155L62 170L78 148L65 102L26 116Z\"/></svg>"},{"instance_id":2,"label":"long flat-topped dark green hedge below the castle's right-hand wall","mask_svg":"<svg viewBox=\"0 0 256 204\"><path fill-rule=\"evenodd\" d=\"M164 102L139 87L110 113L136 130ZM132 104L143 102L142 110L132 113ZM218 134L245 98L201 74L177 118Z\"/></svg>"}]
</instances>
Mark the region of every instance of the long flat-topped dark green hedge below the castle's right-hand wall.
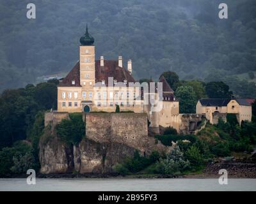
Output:
<instances>
[{"instance_id":1,"label":"long flat-topped dark green hedge below the castle's right-hand wall","mask_svg":"<svg viewBox=\"0 0 256 204\"><path fill-rule=\"evenodd\" d=\"M194 135L156 135L155 138L166 146L172 146L172 141L189 140L190 142L195 142L196 140Z\"/></svg>"}]
</instances>

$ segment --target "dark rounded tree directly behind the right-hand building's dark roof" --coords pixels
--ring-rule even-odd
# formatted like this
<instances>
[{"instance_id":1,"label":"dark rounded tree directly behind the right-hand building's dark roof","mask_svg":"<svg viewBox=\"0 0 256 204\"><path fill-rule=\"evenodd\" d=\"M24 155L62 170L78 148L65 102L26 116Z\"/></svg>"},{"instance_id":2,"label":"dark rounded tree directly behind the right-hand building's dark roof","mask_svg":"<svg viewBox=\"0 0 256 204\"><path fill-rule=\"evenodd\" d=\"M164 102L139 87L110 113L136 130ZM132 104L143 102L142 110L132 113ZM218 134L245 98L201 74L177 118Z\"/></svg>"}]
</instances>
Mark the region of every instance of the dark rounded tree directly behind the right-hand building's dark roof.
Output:
<instances>
[{"instance_id":1,"label":"dark rounded tree directly behind the right-hand building's dark roof","mask_svg":"<svg viewBox=\"0 0 256 204\"><path fill-rule=\"evenodd\" d=\"M224 82L209 82L205 86L205 92L209 98L230 98L232 91Z\"/></svg>"}]
</instances>

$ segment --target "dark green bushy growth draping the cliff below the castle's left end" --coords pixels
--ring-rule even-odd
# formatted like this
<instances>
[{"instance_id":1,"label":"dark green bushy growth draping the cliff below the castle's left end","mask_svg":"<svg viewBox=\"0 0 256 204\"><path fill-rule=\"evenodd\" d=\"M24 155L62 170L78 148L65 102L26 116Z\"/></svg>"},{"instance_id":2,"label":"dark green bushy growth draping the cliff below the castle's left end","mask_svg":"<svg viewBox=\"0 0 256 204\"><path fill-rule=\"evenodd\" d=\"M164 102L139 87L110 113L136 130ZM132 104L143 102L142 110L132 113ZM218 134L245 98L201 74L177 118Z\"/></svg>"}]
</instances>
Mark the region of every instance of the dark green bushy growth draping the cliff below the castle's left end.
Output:
<instances>
[{"instance_id":1,"label":"dark green bushy growth draping the cliff below the castle's left end","mask_svg":"<svg viewBox=\"0 0 256 204\"><path fill-rule=\"evenodd\" d=\"M70 119L63 119L56 125L56 133L63 142L77 145L85 136L85 125L82 113L70 113Z\"/></svg>"}]
</instances>

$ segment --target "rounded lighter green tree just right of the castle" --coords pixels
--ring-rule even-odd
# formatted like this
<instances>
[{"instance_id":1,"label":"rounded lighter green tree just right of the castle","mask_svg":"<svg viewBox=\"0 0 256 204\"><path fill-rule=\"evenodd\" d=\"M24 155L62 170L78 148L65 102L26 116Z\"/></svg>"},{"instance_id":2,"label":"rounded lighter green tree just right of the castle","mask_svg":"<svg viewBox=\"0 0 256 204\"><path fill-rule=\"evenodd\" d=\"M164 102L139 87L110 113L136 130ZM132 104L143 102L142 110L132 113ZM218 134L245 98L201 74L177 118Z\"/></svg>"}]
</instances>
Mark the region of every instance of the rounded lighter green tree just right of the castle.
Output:
<instances>
[{"instance_id":1,"label":"rounded lighter green tree just right of the castle","mask_svg":"<svg viewBox=\"0 0 256 204\"><path fill-rule=\"evenodd\" d=\"M179 99L180 113L195 113L196 94L192 87L178 87L175 95Z\"/></svg>"}]
</instances>

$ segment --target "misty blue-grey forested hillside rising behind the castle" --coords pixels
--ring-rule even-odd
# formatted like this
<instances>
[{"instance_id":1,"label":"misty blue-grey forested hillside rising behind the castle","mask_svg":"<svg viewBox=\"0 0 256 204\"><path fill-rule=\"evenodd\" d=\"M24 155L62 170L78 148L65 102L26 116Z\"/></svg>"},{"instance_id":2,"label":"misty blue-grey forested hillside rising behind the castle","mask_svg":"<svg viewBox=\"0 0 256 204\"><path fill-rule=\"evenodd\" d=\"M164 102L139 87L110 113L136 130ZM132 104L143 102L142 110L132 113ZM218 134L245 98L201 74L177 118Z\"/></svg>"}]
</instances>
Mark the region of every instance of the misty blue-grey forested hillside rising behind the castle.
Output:
<instances>
[{"instance_id":1,"label":"misty blue-grey forested hillside rising behind the castle","mask_svg":"<svg viewBox=\"0 0 256 204\"><path fill-rule=\"evenodd\" d=\"M35 3L36 19L26 18ZM212 0L0 0L0 91L70 71L86 23L96 57L132 59L134 77L223 80L237 96L256 97L240 75L256 71L256 3L227 0L228 19ZM125 64L126 66L126 64ZM238 76L238 77L237 77ZM242 85L241 85L242 84Z\"/></svg>"}]
</instances>

